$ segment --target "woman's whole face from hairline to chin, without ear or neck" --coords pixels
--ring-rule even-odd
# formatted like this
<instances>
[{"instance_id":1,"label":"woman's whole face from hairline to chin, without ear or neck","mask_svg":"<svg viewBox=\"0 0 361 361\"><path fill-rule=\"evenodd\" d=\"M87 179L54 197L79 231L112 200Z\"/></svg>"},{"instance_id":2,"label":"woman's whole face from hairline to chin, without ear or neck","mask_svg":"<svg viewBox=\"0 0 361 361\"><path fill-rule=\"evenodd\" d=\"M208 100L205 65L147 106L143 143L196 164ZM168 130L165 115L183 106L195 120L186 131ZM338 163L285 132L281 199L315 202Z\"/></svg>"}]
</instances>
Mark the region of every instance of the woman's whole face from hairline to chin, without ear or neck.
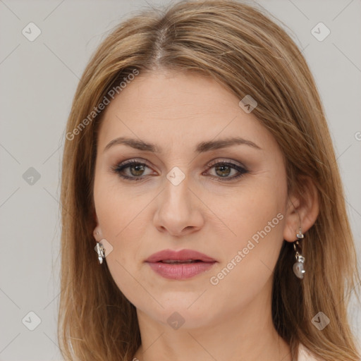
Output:
<instances>
[{"instance_id":1,"label":"woman's whole face from hairline to chin, without ear or neck","mask_svg":"<svg viewBox=\"0 0 361 361\"><path fill-rule=\"evenodd\" d=\"M138 315L193 328L270 305L286 170L276 140L240 100L200 75L145 73L105 109L96 230ZM162 250L189 251L149 258Z\"/></svg>"}]
</instances>

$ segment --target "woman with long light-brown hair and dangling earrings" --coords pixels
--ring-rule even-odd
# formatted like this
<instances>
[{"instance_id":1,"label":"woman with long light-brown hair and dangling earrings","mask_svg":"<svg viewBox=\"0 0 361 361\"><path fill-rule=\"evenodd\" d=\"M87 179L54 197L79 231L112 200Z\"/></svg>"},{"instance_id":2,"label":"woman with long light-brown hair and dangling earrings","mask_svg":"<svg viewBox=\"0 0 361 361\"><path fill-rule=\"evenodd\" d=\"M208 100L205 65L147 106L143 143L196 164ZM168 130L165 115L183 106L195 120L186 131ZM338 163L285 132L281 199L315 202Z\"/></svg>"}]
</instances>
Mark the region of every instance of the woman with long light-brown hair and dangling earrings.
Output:
<instances>
[{"instance_id":1,"label":"woman with long light-brown hair and dangling earrings","mask_svg":"<svg viewBox=\"0 0 361 361\"><path fill-rule=\"evenodd\" d=\"M359 360L324 109L261 11L181 1L121 23L78 85L61 200L66 360Z\"/></svg>"}]
</instances>

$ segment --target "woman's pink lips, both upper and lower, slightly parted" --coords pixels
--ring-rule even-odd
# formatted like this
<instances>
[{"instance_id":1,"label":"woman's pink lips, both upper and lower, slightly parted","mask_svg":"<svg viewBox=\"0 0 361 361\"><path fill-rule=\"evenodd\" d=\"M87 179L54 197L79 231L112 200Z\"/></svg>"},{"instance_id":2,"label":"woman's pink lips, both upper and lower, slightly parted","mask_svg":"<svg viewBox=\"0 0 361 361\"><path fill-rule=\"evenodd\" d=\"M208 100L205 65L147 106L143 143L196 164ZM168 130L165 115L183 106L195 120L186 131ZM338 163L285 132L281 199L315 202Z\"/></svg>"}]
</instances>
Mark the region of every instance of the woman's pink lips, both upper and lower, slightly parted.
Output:
<instances>
[{"instance_id":1,"label":"woman's pink lips, both upper and lower, slightly parted","mask_svg":"<svg viewBox=\"0 0 361 361\"><path fill-rule=\"evenodd\" d=\"M163 250L154 253L145 262L165 279L181 281L208 271L217 261L193 250Z\"/></svg>"}]
</instances>

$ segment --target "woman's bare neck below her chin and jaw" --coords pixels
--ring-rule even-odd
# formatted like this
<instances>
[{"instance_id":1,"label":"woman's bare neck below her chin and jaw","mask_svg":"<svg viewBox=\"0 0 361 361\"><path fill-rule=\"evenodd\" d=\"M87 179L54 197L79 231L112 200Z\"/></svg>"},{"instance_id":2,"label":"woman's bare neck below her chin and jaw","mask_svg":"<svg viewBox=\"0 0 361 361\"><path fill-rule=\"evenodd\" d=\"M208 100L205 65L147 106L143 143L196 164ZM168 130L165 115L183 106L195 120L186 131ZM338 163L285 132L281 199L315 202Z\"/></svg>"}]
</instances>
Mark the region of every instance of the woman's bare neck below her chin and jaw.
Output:
<instances>
[{"instance_id":1,"label":"woman's bare neck below her chin and jaw","mask_svg":"<svg viewBox=\"0 0 361 361\"><path fill-rule=\"evenodd\" d=\"M271 319L270 297L256 297L242 310L221 314L207 326L171 329L137 310L142 345L139 361L291 361L290 348ZM135 360L136 361L136 360Z\"/></svg>"}]
</instances>

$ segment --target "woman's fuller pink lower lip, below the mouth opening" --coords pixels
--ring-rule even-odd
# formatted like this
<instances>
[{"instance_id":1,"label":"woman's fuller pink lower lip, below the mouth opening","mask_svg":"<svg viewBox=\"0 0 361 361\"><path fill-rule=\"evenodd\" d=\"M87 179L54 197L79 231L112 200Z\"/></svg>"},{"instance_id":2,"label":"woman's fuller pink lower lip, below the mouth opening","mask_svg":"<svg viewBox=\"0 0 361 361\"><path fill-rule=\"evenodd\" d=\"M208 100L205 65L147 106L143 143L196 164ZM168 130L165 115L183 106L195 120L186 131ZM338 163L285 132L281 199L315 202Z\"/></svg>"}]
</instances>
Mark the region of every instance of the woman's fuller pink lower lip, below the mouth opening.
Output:
<instances>
[{"instance_id":1,"label":"woman's fuller pink lower lip, below the mouth opening","mask_svg":"<svg viewBox=\"0 0 361 361\"><path fill-rule=\"evenodd\" d=\"M190 279L197 274L208 271L216 263L214 262L195 262L195 263L179 263L169 264L163 262L147 262L153 271L160 274L165 279Z\"/></svg>"}]
</instances>

